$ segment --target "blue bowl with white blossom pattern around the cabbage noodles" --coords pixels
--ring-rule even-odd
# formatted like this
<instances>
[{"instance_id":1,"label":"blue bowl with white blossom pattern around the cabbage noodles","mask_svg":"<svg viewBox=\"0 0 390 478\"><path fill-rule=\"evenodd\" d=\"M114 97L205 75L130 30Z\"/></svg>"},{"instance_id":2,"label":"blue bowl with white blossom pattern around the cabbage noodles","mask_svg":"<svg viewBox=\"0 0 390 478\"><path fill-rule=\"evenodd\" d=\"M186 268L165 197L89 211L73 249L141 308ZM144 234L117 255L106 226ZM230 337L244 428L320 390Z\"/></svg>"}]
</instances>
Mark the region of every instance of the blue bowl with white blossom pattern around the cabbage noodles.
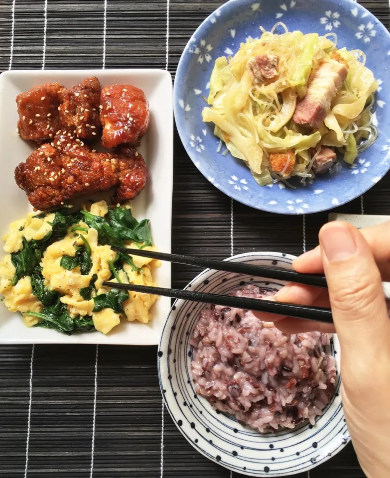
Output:
<instances>
[{"instance_id":1,"label":"blue bowl with white blossom pattern around the cabbage noodles","mask_svg":"<svg viewBox=\"0 0 390 478\"><path fill-rule=\"evenodd\" d=\"M288 189L284 184L260 187L244 163L217 152L213 124L202 121L209 79L216 58L233 55L248 37L260 36L277 21L303 33L334 32L339 48L361 49L367 66L381 86L375 104L379 139L352 165L340 161L331 172L317 175L312 184ZM177 128L187 153L199 171L231 198L263 211L308 214L331 209L370 189L390 167L390 34L368 10L353 0L230 0L215 10L196 30L182 54L174 86ZM382 89L382 86L384 87Z\"/></svg>"}]
</instances>

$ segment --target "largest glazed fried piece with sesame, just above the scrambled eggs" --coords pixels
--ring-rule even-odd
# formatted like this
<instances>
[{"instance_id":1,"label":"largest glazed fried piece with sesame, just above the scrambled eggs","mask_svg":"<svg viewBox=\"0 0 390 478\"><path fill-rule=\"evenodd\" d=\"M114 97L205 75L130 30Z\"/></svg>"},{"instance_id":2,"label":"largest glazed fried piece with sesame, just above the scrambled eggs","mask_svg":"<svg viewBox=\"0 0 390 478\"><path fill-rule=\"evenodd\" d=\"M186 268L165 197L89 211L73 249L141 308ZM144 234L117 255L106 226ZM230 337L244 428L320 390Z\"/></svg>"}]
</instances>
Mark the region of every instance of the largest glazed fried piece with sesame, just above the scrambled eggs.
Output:
<instances>
[{"instance_id":1,"label":"largest glazed fried piece with sesame, just above the scrambled eggs","mask_svg":"<svg viewBox=\"0 0 390 478\"><path fill-rule=\"evenodd\" d=\"M120 153L91 150L71 132L60 132L15 169L15 181L41 211L64 201L119 186L115 201L133 199L145 186L147 170L135 149Z\"/></svg>"}]
</instances>

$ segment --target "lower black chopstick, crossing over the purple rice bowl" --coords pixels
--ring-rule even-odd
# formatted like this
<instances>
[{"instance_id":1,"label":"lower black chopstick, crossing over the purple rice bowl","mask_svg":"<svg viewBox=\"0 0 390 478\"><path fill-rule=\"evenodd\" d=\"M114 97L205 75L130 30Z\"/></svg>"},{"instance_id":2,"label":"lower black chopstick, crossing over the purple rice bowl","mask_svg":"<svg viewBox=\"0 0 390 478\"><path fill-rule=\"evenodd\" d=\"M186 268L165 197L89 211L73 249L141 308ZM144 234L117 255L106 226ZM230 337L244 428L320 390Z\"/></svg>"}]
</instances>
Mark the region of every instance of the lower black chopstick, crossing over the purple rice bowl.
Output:
<instances>
[{"instance_id":1,"label":"lower black chopstick, crossing over the purple rice bowl","mask_svg":"<svg viewBox=\"0 0 390 478\"><path fill-rule=\"evenodd\" d=\"M255 310L257 312L268 312L270 314L295 317L298 319L314 320L325 324L333 324L332 312L330 309L285 304L283 302L274 302L271 300L248 299L246 297L235 297L232 295L208 294L206 292L195 292L192 290L165 289L163 287L149 287L145 285L119 284L117 282L103 282L104 286L115 287L116 289L125 289L143 294L163 295L176 299L191 300L194 302L203 302L206 304L223 305L225 307L235 307L237 309Z\"/></svg>"}]
</instances>

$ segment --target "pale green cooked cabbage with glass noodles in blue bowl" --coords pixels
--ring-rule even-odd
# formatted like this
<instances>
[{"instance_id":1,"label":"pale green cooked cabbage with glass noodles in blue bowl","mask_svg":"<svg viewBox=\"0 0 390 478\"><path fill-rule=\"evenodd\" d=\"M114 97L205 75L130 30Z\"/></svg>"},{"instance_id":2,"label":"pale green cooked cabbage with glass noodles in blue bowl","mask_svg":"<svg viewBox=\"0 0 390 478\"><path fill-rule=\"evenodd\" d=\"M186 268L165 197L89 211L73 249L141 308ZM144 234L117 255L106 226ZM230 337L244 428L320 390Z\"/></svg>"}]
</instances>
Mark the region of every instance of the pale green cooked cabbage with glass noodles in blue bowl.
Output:
<instances>
[{"instance_id":1,"label":"pale green cooked cabbage with glass noodles in blue bowl","mask_svg":"<svg viewBox=\"0 0 390 478\"><path fill-rule=\"evenodd\" d=\"M285 32L274 33L278 26ZM375 131L370 134L375 128L370 110L378 82L365 66L364 53L337 49L335 33L319 37L317 33L289 32L282 23L271 31L260 29L260 39L242 43L232 58L217 58L203 120L215 124L214 134L234 157L245 161L261 186L285 179L279 174L283 170L270 169L269 153L282 155L292 150L295 164L291 176L301 176L302 181L314 177L314 154L321 145L337 148L352 164L363 147L360 143L368 138L364 142L367 148L376 139ZM276 66L272 64L275 57ZM262 69L263 60L268 61L268 70ZM322 126L302 127L293 121L297 101L306 95L322 62L329 61L344 63L347 78Z\"/></svg>"}]
</instances>

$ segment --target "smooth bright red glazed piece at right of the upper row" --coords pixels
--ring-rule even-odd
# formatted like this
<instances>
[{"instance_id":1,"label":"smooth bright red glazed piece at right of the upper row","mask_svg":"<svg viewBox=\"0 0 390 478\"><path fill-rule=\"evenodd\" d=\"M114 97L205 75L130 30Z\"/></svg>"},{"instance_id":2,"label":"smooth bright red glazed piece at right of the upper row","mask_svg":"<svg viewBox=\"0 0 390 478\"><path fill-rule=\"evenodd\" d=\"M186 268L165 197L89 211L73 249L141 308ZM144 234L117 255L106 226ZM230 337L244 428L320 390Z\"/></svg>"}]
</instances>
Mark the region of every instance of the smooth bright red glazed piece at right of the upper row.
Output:
<instances>
[{"instance_id":1,"label":"smooth bright red glazed piece at right of the upper row","mask_svg":"<svg viewBox=\"0 0 390 478\"><path fill-rule=\"evenodd\" d=\"M105 86L100 104L103 146L114 148L124 143L138 146L149 127L149 104L143 91L131 85Z\"/></svg>"}]
</instances>

